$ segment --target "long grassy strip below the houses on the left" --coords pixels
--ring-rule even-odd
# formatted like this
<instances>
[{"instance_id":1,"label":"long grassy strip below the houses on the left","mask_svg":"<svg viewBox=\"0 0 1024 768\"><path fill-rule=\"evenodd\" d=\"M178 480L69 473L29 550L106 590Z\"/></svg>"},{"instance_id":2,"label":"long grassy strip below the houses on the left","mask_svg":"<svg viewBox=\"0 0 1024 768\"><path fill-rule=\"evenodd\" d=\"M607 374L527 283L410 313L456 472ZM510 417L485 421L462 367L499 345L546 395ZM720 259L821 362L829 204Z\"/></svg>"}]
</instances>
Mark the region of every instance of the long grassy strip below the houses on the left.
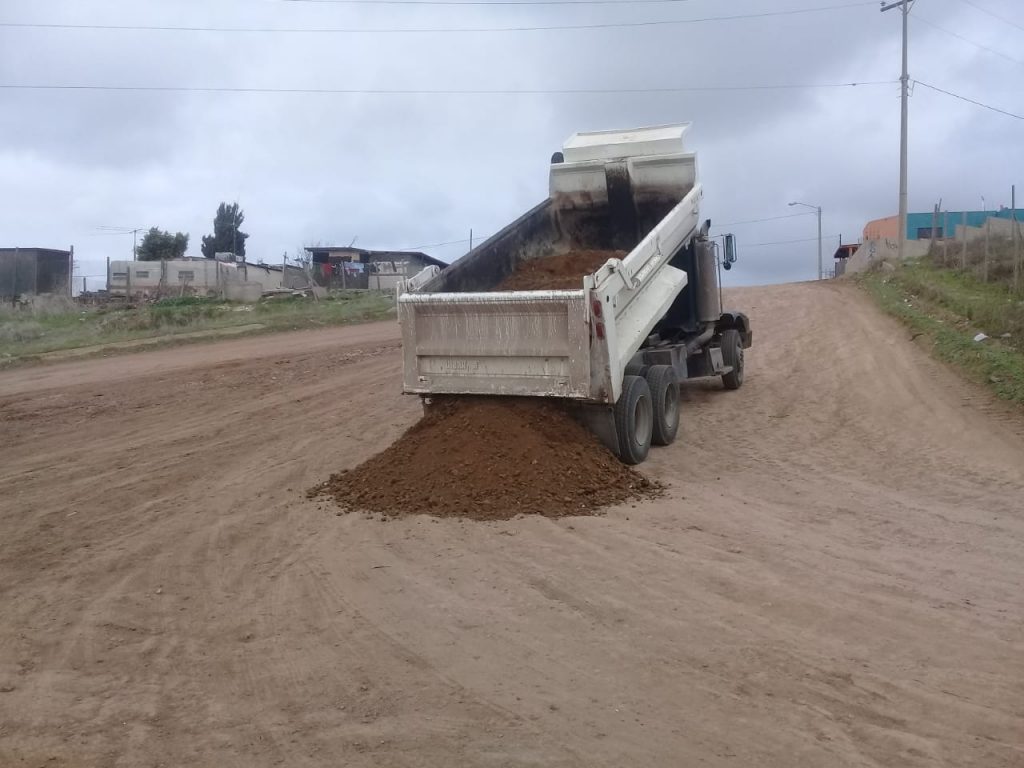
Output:
<instances>
[{"instance_id":1,"label":"long grassy strip below the houses on the left","mask_svg":"<svg viewBox=\"0 0 1024 768\"><path fill-rule=\"evenodd\" d=\"M0 313L0 367L46 352L141 339L168 343L198 331L251 327L253 332L297 331L394 316L393 297L350 292L321 301L274 299L231 304L217 299L167 299L139 307L82 307L68 311ZM243 329L244 330L244 329Z\"/></svg>"}]
</instances>

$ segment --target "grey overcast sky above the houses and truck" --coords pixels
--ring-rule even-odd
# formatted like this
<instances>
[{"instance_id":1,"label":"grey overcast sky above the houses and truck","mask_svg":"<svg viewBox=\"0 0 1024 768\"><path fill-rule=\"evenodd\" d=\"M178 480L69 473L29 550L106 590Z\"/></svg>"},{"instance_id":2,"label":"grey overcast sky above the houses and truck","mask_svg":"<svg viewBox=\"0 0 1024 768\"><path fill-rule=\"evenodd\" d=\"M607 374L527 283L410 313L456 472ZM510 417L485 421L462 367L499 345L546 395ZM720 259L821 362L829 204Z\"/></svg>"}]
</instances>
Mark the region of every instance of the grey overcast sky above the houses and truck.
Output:
<instances>
[{"instance_id":1,"label":"grey overcast sky above the houses and truck","mask_svg":"<svg viewBox=\"0 0 1024 768\"><path fill-rule=\"evenodd\" d=\"M455 2L456 0L453 0ZM895 214L899 88L715 90L895 81L899 13L854 0L420 5L376 0L2 0L0 23L357 30L322 33L0 27L0 85L349 90L700 88L633 94L310 94L0 89L0 246L65 248L101 275L131 236L184 231L189 255L221 201L246 212L249 257L303 245L413 248L494 232L547 195L551 153L578 130L692 122L705 215L735 232L733 284L811 279ZM999 20L977 7L1002 16ZM1024 114L1020 0L918 0L910 74ZM693 24L523 28L817 12ZM836 7L852 6L852 7ZM1016 25L1016 26L1014 26ZM936 29L943 28L946 32ZM373 31L368 31L373 30ZM953 36L961 36L957 39ZM970 42L967 42L967 41ZM991 50L980 47L985 46ZM1000 55L1001 54L1001 55ZM916 86L910 210L1024 195L1024 121ZM808 242L762 246L811 239ZM444 260L465 243L424 248ZM90 281L90 288L102 280Z\"/></svg>"}]
</instances>

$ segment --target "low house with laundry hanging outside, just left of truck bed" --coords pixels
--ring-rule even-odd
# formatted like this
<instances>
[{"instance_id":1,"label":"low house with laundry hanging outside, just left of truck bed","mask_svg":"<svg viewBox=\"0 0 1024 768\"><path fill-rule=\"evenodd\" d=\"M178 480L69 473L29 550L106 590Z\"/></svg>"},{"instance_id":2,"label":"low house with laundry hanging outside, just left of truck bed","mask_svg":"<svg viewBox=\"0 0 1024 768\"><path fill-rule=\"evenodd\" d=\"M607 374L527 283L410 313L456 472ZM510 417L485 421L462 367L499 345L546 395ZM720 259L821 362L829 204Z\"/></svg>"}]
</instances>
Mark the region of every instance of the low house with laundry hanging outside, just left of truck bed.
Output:
<instances>
[{"instance_id":1,"label":"low house with laundry hanging outside, just left of truck bed","mask_svg":"<svg viewBox=\"0 0 1024 768\"><path fill-rule=\"evenodd\" d=\"M312 278L327 288L393 291L400 280L427 266L447 266L419 251L367 251L346 246L309 246Z\"/></svg>"}]
</instances>

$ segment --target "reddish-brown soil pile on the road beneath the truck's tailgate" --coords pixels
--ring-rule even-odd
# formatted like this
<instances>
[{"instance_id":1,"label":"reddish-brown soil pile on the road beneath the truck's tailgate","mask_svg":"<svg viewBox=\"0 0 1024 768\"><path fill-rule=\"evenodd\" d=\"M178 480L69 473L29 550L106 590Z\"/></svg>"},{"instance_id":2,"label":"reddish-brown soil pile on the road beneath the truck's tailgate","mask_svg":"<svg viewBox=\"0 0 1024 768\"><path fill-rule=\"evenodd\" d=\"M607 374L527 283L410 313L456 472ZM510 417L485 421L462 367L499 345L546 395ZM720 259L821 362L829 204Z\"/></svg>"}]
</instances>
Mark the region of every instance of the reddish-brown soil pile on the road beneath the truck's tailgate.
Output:
<instances>
[{"instance_id":1,"label":"reddish-brown soil pile on the road beneath the truck's tailgate","mask_svg":"<svg viewBox=\"0 0 1024 768\"><path fill-rule=\"evenodd\" d=\"M445 398L386 451L310 490L346 511L507 520L590 515L658 492L563 406Z\"/></svg>"}]
</instances>

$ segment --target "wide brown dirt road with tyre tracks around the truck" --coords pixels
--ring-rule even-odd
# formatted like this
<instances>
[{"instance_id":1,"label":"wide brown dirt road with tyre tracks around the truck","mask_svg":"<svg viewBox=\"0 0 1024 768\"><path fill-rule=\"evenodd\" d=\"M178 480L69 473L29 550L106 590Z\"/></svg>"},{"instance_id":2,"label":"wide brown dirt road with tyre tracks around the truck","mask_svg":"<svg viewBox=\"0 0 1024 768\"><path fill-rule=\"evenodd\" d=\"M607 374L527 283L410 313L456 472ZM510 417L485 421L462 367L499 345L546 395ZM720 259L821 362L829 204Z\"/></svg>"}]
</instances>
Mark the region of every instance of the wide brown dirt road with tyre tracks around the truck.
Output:
<instances>
[{"instance_id":1,"label":"wide brown dirt road with tyre tracks around the truck","mask_svg":"<svg viewBox=\"0 0 1024 768\"><path fill-rule=\"evenodd\" d=\"M597 518L307 501L418 416L389 325L0 373L0 765L1024 765L1021 419L732 298L746 385Z\"/></svg>"}]
</instances>

